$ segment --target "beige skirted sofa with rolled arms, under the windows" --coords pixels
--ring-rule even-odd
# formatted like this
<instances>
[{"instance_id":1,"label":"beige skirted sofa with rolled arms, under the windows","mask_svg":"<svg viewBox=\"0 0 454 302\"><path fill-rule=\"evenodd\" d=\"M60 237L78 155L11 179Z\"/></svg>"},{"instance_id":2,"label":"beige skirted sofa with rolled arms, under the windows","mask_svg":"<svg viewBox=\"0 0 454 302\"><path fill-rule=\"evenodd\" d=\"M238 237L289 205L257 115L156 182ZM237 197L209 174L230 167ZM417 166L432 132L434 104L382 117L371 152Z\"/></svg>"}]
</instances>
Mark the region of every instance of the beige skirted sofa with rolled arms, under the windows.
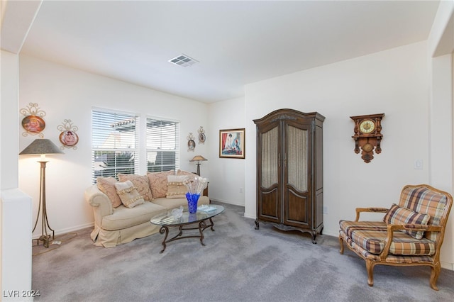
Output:
<instances>
[{"instance_id":1,"label":"beige skirted sofa with rolled arms, under the windows","mask_svg":"<svg viewBox=\"0 0 454 302\"><path fill-rule=\"evenodd\" d=\"M153 191L153 188L151 188ZM207 190L204 190L206 194ZM94 230L91 237L95 245L115 247L134 239L158 233L160 227L152 225L150 219L161 213L183 206L187 210L186 198L153 198L133 208L120 205L114 207L111 198L96 184L84 191L85 200L93 207ZM200 196L198 205L209 204L208 196Z\"/></svg>"}]
</instances>

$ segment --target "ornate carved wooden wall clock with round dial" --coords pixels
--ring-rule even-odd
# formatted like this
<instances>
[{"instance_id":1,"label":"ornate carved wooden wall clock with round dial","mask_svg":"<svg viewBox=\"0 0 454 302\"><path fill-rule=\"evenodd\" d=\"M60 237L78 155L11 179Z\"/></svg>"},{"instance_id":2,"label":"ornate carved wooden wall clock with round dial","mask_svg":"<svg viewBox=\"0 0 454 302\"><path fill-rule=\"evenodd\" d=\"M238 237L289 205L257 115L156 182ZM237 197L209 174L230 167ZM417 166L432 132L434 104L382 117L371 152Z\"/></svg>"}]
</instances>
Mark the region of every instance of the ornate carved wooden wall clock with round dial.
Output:
<instances>
[{"instance_id":1,"label":"ornate carved wooden wall clock with round dial","mask_svg":"<svg viewBox=\"0 0 454 302\"><path fill-rule=\"evenodd\" d=\"M368 116L350 116L355 122L355 153L361 151L361 158L368 163L374 158L374 148L377 154L382 152L382 118L384 113L370 114Z\"/></svg>"}]
</instances>

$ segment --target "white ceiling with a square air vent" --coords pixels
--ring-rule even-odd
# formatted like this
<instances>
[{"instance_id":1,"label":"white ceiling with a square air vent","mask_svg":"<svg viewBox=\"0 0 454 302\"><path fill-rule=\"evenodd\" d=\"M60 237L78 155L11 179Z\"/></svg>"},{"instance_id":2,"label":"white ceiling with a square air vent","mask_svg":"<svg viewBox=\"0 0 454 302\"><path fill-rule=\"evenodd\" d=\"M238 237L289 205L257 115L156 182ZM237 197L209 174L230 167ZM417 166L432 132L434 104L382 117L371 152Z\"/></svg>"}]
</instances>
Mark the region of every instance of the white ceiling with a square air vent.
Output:
<instances>
[{"instance_id":1,"label":"white ceiling with a square air vent","mask_svg":"<svg viewBox=\"0 0 454 302\"><path fill-rule=\"evenodd\" d=\"M428 38L438 1L12 1L1 47L206 103ZM168 62L185 54L191 67Z\"/></svg>"}]
</instances>

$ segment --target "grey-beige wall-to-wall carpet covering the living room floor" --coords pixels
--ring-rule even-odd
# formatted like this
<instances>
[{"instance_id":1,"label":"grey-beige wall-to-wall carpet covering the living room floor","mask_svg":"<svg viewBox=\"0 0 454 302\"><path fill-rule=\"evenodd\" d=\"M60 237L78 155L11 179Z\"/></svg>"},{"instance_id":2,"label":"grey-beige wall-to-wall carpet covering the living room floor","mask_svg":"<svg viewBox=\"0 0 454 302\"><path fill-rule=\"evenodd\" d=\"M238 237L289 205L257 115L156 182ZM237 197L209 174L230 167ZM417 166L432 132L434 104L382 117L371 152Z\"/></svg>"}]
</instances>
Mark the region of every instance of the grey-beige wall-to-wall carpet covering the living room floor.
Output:
<instances>
[{"instance_id":1,"label":"grey-beige wall-to-wall carpet covering the living room floor","mask_svg":"<svg viewBox=\"0 0 454 302\"><path fill-rule=\"evenodd\" d=\"M162 234L126 245L96 247L90 229L57 237L61 245L33 247L35 301L452 301L454 272L442 269L439 291L429 267L375 267L367 286L365 263L338 238L282 232L244 218L222 204L214 232L170 242ZM57 248L55 248L57 247ZM54 249L54 250L52 250Z\"/></svg>"}]
</instances>

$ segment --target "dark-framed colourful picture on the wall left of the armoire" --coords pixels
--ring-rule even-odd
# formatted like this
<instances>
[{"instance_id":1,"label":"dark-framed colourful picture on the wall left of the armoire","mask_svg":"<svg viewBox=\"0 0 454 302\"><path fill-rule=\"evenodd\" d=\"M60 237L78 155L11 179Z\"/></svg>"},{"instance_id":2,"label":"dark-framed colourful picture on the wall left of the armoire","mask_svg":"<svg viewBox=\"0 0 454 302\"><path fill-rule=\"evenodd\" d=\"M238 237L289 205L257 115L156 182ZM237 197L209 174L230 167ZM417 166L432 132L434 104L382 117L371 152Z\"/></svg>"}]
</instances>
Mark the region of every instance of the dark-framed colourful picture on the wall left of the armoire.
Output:
<instances>
[{"instance_id":1,"label":"dark-framed colourful picture on the wall left of the armoire","mask_svg":"<svg viewBox=\"0 0 454 302\"><path fill-rule=\"evenodd\" d=\"M245 158L245 128L219 130L219 157Z\"/></svg>"}]
</instances>

